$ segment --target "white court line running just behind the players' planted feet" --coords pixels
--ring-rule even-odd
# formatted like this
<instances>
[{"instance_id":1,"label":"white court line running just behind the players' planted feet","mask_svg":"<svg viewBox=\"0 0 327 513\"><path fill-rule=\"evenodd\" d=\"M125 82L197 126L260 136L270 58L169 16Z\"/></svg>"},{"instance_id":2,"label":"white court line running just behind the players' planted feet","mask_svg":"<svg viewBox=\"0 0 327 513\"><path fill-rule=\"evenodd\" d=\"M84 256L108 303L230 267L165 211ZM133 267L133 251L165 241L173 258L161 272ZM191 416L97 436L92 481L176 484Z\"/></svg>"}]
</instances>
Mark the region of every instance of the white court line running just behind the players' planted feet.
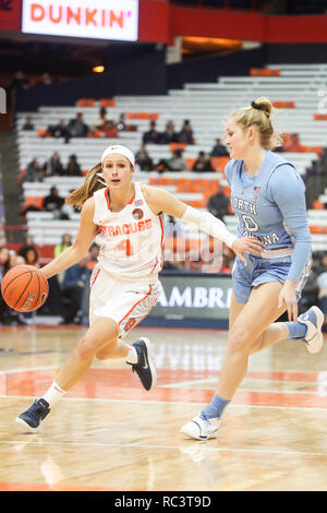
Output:
<instances>
[{"instance_id":1,"label":"white court line running just behind the players' planted feet","mask_svg":"<svg viewBox=\"0 0 327 513\"><path fill-rule=\"evenodd\" d=\"M34 401L35 396L32 395L4 395L0 394L0 398L14 398L14 399L31 399ZM135 404L165 404L165 405L182 405L182 406L203 406L206 405L206 403L198 403L198 402L175 402L175 401L149 401L149 399L116 399L116 398L101 398L101 397L62 397L60 402L62 401L87 401L87 402L98 402L98 403L135 403ZM231 403L229 405L229 408L272 408L272 409L295 409L295 410L307 410L307 411L324 411L327 414L327 408L316 408L316 407L311 407L311 406L269 406L269 405L257 405L257 404L237 404L237 403Z\"/></svg>"}]
</instances>

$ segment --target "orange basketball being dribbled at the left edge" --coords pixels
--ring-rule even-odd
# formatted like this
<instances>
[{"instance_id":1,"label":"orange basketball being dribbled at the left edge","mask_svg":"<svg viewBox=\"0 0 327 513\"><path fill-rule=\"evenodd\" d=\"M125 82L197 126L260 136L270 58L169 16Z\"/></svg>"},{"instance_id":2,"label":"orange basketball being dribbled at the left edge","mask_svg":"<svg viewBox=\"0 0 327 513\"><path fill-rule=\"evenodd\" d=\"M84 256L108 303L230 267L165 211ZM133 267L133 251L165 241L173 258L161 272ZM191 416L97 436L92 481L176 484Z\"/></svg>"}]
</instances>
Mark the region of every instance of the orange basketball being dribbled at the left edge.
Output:
<instances>
[{"instance_id":1,"label":"orange basketball being dribbled at the left edge","mask_svg":"<svg viewBox=\"0 0 327 513\"><path fill-rule=\"evenodd\" d=\"M49 285L33 265L15 265L3 277L1 294L10 308L17 312L33 312L46 301Z\"/></svg>"}]
</instances>

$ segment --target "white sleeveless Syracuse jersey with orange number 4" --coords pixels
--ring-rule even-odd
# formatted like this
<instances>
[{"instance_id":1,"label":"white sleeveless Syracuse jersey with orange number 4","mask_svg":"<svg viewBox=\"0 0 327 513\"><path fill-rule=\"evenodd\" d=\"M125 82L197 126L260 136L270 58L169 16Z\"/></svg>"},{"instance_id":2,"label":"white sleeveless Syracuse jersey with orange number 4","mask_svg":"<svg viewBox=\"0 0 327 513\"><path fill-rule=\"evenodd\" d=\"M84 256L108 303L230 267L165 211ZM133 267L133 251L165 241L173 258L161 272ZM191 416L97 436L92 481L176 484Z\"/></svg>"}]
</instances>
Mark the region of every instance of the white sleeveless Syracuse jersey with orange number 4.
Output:
<instances>
[{"instance_id":1,"label":"white sleeveless Syracuse jersey with orange number 4","mask_svg":"<svg viewBox=\"0 0 327 513\"><path fill-rule=\"evenodd\" d=\"M120 279L155 282L164 264L164 223L147 206L141 184L120 212L110 211L109 189L95 192L94 223L100 269Z\"/></svg>"}]
</instances>

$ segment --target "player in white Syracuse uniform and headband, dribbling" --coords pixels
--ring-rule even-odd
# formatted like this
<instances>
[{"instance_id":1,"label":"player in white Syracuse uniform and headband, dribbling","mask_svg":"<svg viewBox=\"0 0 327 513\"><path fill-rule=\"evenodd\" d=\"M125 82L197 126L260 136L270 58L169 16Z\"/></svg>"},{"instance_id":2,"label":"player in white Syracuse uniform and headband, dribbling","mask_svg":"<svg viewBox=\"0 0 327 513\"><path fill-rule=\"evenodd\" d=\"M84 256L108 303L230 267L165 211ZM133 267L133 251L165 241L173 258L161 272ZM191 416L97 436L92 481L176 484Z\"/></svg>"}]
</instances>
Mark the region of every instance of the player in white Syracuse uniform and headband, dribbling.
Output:
<instances>
[{"instance_id":1,"label":"player in white Syracuse uniform and headband, dribbling","mask_svg":"<svg viewBox=\"0 0 327 513\"><path fill-rule=\"evenodd\" d=\"M133 183L134 155L125 146L105 150L101 162L72 192L68 204L81 208L74 243L41 269L47 278L80 262L96 240L98 263L90 277L89 329L46 393L16 418L35 431L50 408L86 373L93 359L124 358L145 387L156 383L150 342L123 342L155 306L161 294L162 214L194 224L219 238L245 262L244 252L261 254L263 244L253 237L237 238L225 224L177 200L169 192Z\"/></svg>"}]
</instances>

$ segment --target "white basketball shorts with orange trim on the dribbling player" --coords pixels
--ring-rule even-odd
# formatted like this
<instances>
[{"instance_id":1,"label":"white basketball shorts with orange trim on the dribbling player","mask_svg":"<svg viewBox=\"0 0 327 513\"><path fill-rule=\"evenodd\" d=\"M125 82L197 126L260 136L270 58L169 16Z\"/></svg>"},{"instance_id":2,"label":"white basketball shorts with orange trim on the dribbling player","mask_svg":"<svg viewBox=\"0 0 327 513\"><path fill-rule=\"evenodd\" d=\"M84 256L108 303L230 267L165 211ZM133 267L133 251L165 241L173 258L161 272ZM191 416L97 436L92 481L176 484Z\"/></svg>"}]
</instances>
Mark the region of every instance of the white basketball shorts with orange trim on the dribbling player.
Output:
<instances>
[{"instance_id":1,"label":"white basketball shorts with orange trim on the dribbling player","mask_svg":"<svg viewBox=\"0 0 327 513\"><path fill-rule=\"evenodd\" d=\"M152 285L124 282L96 265L90 276L89 325L97 318L112 319L123 338L154 308L161 290L159 279Z\"/></svg>"}]
</instances>

